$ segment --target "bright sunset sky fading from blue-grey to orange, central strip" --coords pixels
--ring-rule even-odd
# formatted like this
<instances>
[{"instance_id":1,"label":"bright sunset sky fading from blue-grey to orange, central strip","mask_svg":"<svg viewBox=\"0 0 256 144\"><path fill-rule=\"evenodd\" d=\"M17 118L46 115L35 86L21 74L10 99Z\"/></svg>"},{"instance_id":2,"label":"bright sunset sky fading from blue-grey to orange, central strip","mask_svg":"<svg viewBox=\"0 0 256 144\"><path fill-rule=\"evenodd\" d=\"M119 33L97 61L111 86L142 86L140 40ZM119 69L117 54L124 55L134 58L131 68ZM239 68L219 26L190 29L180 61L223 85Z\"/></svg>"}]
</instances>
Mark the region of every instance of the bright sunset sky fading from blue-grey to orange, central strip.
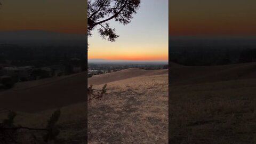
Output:
<instances>
[{"instance_id":1,"label":"bright sunset sky fading from blue-grey to orange, central strip","mask_svg":"<svg viewBox=\"0 0 256 144\"><path fill-rule=\"evenodd\" d=\"M117 41L103 40L95 29L88 39L88 59L168 60L168 0L142 0L131 23L112 20L110 26Z\"/></svg>"}]
</instances>

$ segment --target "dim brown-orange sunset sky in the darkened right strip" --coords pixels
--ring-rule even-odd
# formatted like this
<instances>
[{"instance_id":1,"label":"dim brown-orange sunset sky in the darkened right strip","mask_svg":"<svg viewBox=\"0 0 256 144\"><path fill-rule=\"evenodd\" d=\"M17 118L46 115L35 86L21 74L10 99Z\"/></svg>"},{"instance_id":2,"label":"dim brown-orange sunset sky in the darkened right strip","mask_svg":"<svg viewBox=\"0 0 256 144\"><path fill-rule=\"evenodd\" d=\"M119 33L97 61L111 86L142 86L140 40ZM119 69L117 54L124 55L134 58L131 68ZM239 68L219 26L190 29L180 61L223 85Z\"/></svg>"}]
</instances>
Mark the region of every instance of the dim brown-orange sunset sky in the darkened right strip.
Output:
<instances>
[{"instance_id":1,"label":"dim brown-orange sunset sky in the darkened right strip","mask_svg":"<svg viewBox=\"0 0 256 144\"><path fill-rule=\"evenodd\" d=\"M169 34L256 35L255 0L172 0Z\"/></svg>"}]
</instances>

